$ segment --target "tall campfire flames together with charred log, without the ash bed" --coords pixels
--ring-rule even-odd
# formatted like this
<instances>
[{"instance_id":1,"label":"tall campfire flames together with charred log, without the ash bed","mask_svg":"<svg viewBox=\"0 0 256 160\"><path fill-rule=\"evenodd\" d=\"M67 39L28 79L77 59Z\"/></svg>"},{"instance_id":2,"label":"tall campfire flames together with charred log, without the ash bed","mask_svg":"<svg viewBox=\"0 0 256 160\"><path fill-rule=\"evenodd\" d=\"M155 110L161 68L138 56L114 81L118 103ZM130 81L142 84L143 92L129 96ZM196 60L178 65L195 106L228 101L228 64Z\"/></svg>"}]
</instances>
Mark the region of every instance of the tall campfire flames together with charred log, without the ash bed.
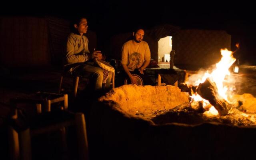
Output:
<instances>
[{"instance_id":1,"label":"tall campfire flames together with charred log, without the ash bed","mask_svg":"<svg viewBox=\"0 0 256 160\"><path fill-rule=\"evenodd\" d=\"M232 87L223 85L226 76L230 75L229 68L236 61L232 52L227 49L221 50L222 58L211 73L207 71L202 78L196 82L187 82L188 86L193 88L191 91L192 106L193 101L200 102L205 110L210 114L227 115L228 111L238 104L230 102L228 95L232 96ZM217 112L216 112L217 111Z\"/></svg>"}]
</instances>

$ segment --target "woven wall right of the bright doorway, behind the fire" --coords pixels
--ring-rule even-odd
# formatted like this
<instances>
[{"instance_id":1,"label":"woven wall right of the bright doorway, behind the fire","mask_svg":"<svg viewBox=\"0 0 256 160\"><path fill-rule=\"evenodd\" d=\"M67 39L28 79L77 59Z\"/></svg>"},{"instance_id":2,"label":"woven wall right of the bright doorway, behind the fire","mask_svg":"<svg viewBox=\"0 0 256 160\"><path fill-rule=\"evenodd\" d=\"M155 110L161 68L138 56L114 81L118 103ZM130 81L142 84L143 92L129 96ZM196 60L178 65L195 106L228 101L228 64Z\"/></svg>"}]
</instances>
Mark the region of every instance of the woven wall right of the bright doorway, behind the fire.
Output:
<instances>
[{"instance_id":1,"label":"woven wall right of the bright doorway, behind the fire","mask_svg":"<svg viewBox=\"0 0 256 160\"><path fill-rule=\"evenodd\" d=\"M205 67L220 60L221 48L230 50L231 36L223 30L180 30L172 42L174 65Z\"/></svg>"}]
</instances>

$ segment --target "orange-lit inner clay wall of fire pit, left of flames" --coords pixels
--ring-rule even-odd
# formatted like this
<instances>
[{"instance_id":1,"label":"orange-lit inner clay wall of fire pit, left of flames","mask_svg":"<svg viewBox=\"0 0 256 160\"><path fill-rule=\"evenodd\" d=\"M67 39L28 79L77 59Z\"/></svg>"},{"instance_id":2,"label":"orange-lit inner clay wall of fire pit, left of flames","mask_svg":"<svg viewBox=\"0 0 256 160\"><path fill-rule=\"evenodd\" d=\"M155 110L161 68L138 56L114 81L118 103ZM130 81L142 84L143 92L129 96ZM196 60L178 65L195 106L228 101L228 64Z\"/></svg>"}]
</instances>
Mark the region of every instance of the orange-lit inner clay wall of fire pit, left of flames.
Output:
<instances>
[{"instance_id":1,"label":"orange-lit inner clay wall of fire pit, left of flames","mask_svg":"<svg viewBox=\"0 0 256 160\"><path fill-rule=\"evenodd\" d=\"M172 108L188 105L189 95L175 86L124 85L99 99L115 102L114 110L124 116L151 120Z\"/></svg>"}]
</instances>

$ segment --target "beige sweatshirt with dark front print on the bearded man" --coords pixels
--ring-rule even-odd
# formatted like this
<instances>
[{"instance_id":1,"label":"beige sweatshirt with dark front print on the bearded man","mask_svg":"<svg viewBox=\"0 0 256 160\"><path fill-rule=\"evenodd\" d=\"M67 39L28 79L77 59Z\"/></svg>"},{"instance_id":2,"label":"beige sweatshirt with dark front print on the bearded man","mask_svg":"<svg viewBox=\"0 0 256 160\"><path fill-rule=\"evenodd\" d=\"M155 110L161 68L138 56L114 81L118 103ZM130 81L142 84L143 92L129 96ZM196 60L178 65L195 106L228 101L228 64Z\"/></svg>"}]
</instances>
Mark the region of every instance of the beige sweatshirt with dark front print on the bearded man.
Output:
<instances>
[{"instance_id":1,"label":"beige sweatshirt with dark front print on the bearded man","mask_svg":"<svg viewBox=\"0 0 256 160\"><path fill-rule=\"evenodd\" d=\"M133 44L132 40L129 40L124 43L121 64L126 64L130 71L134 71L140 68L145 61L150 61L150 49L147 42L141 41Z\"/></svg>"}]
</instances>

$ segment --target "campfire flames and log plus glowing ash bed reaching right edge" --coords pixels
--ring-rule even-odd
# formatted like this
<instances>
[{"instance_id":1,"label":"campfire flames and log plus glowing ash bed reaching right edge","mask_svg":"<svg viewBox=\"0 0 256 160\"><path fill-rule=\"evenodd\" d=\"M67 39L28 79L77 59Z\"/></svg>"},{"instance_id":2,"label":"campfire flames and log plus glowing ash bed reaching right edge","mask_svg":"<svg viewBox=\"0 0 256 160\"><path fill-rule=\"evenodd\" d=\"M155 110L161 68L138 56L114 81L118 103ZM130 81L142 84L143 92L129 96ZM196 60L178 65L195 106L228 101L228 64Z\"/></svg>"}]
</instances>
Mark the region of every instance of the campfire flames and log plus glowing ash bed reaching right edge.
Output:
<instances>
[{"instance_id":1,"label":"campfire flames and log plus glowing ash bed reaching right edge","mask_svg":"<svg viewBox=\"0 0 256 160\"><path fill-rule=\"evenodd\" d=\"M202 78L186 82L186 86L191 90L190 106L196 110L203 110L204 115L209 118L219 115L218 119L227 117L228 120L238 119L239 122L234 122L238 126L255 126L255 114L252 114L254 110L250 110L250 108L246 112L245 108L248 108L248 104L244 103L246 98L241 99L245 95L249 95L250 98L253 96L250 94L235 95L233 93L234 86L228 83L230 80L228 78L230 76L229 68L236 59L227 49L221 50L221 55L220 62L216 64L211 73L207 71L201 76ZM198 76L195 75L195 77ZM255 98L251 100L251 102L255 102Z\"/></svg>"}]
</instances>

